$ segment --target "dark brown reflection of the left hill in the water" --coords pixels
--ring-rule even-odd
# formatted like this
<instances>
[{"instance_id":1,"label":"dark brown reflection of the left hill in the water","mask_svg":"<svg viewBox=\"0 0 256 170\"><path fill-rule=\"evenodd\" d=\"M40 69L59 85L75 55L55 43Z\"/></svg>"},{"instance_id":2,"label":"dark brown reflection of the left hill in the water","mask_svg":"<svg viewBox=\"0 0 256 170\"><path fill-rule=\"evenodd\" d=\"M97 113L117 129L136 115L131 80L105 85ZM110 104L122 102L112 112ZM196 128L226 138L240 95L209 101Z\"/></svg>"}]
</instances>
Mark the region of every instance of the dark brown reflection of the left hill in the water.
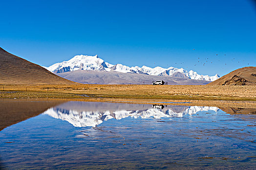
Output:
<instances>
[{"instance_id":1,"label":"dark brown reflection of the left hill in the water","mask_svg":"<svg viewBox=\"0 0 256 170\"><path fill-rule=\"evenodd\" d=\"M38 116L50 107L57 106L65 100L14 100L0 99L0 131L7 126Z\"/></svg>"}]
</instances>

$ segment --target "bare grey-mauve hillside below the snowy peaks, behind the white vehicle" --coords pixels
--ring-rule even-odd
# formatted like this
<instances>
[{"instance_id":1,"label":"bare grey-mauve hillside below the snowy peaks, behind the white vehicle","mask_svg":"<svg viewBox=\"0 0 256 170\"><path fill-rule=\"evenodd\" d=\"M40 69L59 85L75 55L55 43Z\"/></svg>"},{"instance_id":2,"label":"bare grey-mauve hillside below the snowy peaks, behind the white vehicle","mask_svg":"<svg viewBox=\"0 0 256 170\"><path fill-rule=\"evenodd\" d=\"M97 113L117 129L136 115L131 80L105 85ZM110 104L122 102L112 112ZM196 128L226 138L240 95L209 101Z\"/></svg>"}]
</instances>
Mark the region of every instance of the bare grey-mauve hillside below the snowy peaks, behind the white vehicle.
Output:
<instances>
[{"instance_id":1,"label":"bare grey-mauve hillside below the snowy peaks, behind the white vehicle","mask_svg":"<svg viewBox=\"0 0 256 170\"><path fill-rule=\"evenodd\" d=\"M193 80L181 77L153 76L136 73L121 73L116 71L95 71L95 70L76 70L58 73L67 80L82 84L98 85L151 85L152 81L163 80L168 85L207 85L209 81Z\"/></svg>"}]
</instances>

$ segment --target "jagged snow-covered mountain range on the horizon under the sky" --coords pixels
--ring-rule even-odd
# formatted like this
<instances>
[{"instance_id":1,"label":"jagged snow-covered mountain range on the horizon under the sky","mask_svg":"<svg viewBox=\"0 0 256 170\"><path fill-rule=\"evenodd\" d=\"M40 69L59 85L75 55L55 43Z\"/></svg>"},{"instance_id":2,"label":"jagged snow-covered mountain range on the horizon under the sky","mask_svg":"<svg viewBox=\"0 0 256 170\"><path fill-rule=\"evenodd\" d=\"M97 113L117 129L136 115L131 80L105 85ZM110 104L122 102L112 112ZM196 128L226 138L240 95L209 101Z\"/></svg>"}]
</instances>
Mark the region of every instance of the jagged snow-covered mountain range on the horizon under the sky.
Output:
<instances>
[{"instance_id":1,"label":"jagged snow-covered mountain range on the horizon under the sky","mask_svg":"<svg viewBox=\"0 0 256 170\"><path fill-rule=\"evenodd\" d=\"M128 67L122 64L112 65L99 58L98 55L76 55L68 61L62 63L56 63L50 67L43 67L53 73L63 73L75 70L97 70L97 71L117 71L122 73L137 73L137 74L148 74L156 76L171 76L189 78L195 80L215 81L220 76L218 74L214 76L200 75L195 71L187 71L183 68L161 68L155 67L150 68L147 66Z\"/></svg>"}]
</instances>

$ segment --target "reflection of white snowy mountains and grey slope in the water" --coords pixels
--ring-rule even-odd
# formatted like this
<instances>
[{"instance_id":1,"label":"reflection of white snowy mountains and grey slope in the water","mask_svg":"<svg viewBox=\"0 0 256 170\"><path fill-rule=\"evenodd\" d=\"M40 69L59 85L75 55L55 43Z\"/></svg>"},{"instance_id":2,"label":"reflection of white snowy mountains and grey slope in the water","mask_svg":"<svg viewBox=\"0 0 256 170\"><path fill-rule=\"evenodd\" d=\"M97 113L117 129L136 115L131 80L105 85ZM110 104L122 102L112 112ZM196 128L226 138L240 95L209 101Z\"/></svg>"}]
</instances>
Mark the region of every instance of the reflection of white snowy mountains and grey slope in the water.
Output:
<instances>
[{"instance_id":1,"label":"reflection of white snowy mountains and grey slope in the water","mask_svg":"<svg viewBox=\"0 0 256 170\"><path fill-rule=\"evenodd\" d=\"M75 106L74 106L75 104ZM123 107L122 107L123 106ZM167 105L154 108L149 104L98 103L98 102L67 102L46 110L43 114L56 119L66 120L75 127L95 127L108 119L171 118L193 115L198 111L213 110L217 107ZM122 109L123 108L123 109ZM130 109L129 109L130 108Z\"/></svg>"}]
</instances>

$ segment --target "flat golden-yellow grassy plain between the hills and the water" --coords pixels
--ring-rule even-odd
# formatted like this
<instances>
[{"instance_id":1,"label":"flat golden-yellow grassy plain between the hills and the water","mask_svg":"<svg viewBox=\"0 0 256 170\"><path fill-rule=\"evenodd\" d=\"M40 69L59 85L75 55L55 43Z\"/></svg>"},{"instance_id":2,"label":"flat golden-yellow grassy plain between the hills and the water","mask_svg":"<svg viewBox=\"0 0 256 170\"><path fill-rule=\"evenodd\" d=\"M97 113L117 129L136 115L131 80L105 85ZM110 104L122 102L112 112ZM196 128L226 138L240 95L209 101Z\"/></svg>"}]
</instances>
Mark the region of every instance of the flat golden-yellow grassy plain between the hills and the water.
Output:
<instances>
[{"instance_id":1,"label":"flat golden-yellow grassy plain between the hills and the water","mask_svg":"<svg viewBox=\"0 0 256 170\"><path fill-rule=\"evenodd\" d=\"M256 108L256 86L235 85L0 85L0 98L48 98L99 102L191 102ZM246 101L246 102L245 102ZM190 105L190 104L188 104Z\"/></svg>"}]
</instances>

